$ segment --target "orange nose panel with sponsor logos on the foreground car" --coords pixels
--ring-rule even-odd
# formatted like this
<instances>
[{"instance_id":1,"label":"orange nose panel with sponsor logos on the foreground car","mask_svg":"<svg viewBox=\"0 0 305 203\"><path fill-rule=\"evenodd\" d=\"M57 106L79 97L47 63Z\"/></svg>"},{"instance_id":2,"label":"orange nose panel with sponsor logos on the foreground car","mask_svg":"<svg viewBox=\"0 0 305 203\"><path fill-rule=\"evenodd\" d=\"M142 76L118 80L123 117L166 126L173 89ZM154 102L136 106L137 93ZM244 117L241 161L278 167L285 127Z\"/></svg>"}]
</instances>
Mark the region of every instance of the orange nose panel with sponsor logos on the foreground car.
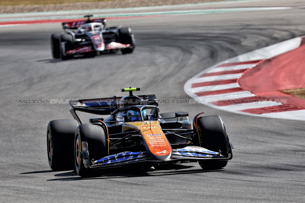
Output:
<instances>
[{"instance_id":1,"label":"orange nose panel with sponsor logos on the foreground car","mask_svg":"<svg viewBox=\"0 0 305 203\"><path fill-rule=\"evenodd\" d=\"M165 156L171 153L171 146L165 137L159 121L128 122L123 124L123 132L140 130L146 148L151 154Z\"/></svg>"}]
</instances>

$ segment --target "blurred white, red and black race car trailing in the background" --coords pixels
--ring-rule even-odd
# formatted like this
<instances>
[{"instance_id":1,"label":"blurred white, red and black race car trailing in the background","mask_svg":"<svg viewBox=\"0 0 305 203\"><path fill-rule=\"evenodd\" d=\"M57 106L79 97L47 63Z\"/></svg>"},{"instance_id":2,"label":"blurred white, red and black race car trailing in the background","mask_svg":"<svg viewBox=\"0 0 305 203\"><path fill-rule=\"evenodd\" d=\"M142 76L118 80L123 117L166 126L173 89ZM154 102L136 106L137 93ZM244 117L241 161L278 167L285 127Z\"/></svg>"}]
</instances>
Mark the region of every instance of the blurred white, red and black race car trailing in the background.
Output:
<instances>
[{"instance_id":1,"label":"blurred white, red and black race car trailing in the background","mask_svg":"<svg viewBox=\"0 0 305 203\"><path fill-rule=\"evenodd\" d=\"M51 35L51 51L54 59L71 59L80 54L132 53L135 39L129 27L114 26L106 28L106 19L63 22L65 33Z\"/></svg>"}]
</instances>

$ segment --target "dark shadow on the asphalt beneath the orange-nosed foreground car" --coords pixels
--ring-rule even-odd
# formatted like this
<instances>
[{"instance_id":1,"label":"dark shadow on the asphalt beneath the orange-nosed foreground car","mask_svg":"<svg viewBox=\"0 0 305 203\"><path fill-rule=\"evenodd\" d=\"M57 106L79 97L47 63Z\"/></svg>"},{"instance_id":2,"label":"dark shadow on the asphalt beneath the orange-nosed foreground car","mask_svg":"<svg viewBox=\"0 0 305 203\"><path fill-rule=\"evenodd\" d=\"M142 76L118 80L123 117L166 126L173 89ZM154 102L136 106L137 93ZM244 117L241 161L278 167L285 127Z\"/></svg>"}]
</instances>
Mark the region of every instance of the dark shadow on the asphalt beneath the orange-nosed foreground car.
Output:
<instances>
[{"instance_id":1,"label":"dark shadow on the asphalt beneath the orange-nosed foreground car","mask_svg":"<svg viewBox=\"0 0 305 203\"><path fill-rule=\"evenodd\" d=\"M180 175L180 174L195 174L195 173L208 173L208 172L221 172L224 170L202 170L191 169L194 166L185 165L170 165L166 167L156 167L154 170L149 169L135 169L135 168L112 168L108 171L101 172L100 176L96 177L80 177L76 171L64 172L54 176L59 178L49 179L47 181L77 181L86 179L111 179L111 178L126 178L126 177L145 177L145 176L167 176L167 175ZM65 177L66 176L66 177ZM73 177L71 177L73 176Z\"/></svg>"}]
</instances>

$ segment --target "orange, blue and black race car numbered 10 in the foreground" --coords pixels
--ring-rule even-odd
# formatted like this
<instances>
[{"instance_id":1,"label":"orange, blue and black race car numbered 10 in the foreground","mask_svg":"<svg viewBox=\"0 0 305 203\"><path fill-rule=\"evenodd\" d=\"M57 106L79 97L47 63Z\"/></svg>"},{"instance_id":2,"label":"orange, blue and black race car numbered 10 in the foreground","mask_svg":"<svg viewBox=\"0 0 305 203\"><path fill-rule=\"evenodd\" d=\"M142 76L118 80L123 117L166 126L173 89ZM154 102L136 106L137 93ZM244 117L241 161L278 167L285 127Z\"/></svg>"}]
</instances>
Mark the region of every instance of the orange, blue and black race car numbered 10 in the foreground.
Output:
<instances>
[{"instance_id":1,"label":"orange, blue and black race car numbered 10 in the foreground","mask_svg":"<svg viewBox=\"0 0 305 203\"><path fill-rule=\"evenodd\" d=\"M216 170L232 159L232 143L218 115L188 112L159 113L155 95L70 101L74 119L48 124L48 163L53 170L76 169L80 176L96 176L106 168L199 162ZM77 111L107 118L82 123Z\"/></svg>"}]
</instances>

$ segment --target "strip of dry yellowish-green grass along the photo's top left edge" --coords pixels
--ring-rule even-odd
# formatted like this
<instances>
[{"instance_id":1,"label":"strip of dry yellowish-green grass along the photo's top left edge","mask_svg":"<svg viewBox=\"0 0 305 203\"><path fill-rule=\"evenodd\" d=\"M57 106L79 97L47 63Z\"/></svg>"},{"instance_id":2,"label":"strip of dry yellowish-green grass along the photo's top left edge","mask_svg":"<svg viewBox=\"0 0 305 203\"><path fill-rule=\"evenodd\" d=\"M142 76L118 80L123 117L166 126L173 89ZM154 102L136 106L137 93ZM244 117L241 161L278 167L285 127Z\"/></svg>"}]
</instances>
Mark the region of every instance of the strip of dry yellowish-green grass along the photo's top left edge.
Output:
<instances>
[{"instance_id":1,"label":"strip of dry yellowish-green grass along the photo's top left edge","mask_svg":"<svg viewBox=\"0 0 305 203\"><path fill-rule=\"evenodd\" d=\"M105 2L111 0L0 0L0 6L18 6L18 5L47 5L63 4L77 2Z\"/></svg>"}]
</instances>

